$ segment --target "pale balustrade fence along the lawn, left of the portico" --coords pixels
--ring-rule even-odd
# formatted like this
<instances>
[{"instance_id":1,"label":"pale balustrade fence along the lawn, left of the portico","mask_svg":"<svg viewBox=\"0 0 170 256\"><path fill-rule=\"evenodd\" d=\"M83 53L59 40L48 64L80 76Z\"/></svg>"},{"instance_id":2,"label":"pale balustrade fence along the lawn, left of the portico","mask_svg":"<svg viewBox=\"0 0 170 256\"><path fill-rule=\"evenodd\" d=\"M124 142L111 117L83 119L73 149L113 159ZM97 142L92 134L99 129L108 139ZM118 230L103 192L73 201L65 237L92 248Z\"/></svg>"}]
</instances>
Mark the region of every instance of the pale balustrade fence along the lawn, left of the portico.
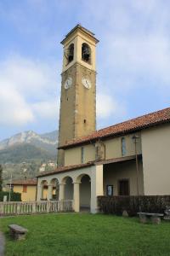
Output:
<instances>
[{"instance_id":1,"label":"pale balustrade fence along the lawn, left of the portico","mask_svg":"<svg viewBox=\"0 0 170 256\"><path fill-rule=\"evenodd\" d=\"M72 212L73 201L0 202L0 216L49 212Z\"/></svg>"}]
</instances>

